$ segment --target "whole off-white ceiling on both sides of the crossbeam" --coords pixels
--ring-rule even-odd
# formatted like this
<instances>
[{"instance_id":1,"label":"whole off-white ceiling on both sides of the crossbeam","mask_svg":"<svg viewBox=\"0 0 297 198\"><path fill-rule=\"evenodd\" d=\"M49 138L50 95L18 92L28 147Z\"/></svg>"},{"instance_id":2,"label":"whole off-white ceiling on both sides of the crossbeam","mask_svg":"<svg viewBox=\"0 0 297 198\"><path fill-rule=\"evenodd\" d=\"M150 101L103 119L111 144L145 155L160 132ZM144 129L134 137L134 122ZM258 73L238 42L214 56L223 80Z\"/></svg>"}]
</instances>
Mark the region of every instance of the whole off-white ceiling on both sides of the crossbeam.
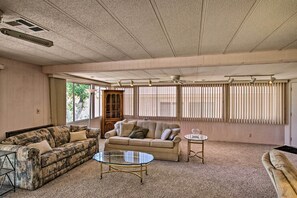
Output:
<instances>
[{"instance_id":1,"label":"whole off-white ceiling on both sides of the crossbeam","mask_svg":"<svg viewBox=\"0 0 297 198\"><path fill-rule=\"evenodd\" d=\"M0 9L4 21L21 16L49 30L34 35L54 41L50 48L0 34L0 56L37 65L297 49L296 0L1 0ZM296 68L284 63L71 74L108 82L177 74L185 80L251 73L291 79Z\"/></svg>"}]
</instances>

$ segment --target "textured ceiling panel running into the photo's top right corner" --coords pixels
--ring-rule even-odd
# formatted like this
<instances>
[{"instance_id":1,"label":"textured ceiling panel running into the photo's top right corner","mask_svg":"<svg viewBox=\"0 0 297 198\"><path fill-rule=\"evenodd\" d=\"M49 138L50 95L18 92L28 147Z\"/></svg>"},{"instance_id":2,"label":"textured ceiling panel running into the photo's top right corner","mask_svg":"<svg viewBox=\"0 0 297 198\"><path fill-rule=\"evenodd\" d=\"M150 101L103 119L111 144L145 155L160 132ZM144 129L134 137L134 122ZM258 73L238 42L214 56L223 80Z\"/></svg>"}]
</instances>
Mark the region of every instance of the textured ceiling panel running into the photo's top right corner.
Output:
<instances>
[{"instance_id":1,"label":"textured ceiling panel running into the photo's top right corner","mask_svg":"<svg viewBox=\"0 0 297 198\"><path fill-rule=\"evenodd\" d=\"M289 19L297 10L296 0L260 1L253 13L244 21L242 28L226 50L247 52Z\"/></svg>"}]
</instances>

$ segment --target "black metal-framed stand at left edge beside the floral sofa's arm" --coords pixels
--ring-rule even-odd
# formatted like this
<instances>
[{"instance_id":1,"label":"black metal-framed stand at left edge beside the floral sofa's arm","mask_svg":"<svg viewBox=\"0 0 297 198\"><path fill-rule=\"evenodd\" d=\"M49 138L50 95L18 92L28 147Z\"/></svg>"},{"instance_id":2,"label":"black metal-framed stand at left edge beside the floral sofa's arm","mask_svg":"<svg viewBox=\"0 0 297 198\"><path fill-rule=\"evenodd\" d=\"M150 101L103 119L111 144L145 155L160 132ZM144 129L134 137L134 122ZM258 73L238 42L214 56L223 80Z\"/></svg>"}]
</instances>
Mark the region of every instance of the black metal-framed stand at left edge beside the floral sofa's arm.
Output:
<instances>
[{"instance_id":1,"label":"black metal-framed stand at left edge beside the floral sofa's arm","mask_svg":"<svg viewBox=\"0 0 297 198\"><path fill-rule=\"evenodd\" d=\"M11 190L15 192L15 167L16 152L0 150L0 197Z\"/></svg>"}]
</instances>

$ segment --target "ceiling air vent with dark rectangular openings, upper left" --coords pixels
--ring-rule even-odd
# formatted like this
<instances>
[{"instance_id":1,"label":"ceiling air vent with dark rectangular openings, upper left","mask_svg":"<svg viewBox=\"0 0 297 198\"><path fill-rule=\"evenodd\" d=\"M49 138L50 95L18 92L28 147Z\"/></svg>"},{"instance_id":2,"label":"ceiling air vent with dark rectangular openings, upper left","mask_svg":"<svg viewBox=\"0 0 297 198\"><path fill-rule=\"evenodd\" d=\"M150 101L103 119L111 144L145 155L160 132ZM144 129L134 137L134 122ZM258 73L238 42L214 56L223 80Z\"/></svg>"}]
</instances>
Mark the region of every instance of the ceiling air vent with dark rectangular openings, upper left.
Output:
<instances>
[{"instance_id":1,"label":"ceiling air vent with dark rectangular openings, upper left","mask_svg":"<svg viewBox=\"0 0 297 198\"><path fill-rule=\"evenodd\" d=\"M9 21L5 21L5 23L10 26L21 29L25 32L36 33L36 32L47 31L46 29L40 27L39 25L36 25L33 22L28 21L27 19L24 19L24 18L14 18Z\"/></svg>"}]
</instances>

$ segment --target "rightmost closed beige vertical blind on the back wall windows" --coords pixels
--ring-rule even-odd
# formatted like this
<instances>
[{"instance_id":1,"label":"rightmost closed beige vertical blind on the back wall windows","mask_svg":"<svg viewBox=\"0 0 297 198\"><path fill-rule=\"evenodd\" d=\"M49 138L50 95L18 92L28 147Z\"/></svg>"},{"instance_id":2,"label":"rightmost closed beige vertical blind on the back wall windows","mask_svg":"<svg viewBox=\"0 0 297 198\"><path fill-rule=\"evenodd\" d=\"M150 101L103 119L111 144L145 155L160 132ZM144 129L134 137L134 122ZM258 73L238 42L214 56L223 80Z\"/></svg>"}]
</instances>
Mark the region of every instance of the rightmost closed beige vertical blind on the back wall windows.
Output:
<instances>
[{"instance_id":1,"label":"rightmost closed beige vertical blind on the back wall windows","mask_svg":"<svg viewBox=\"0 0 297 198\"><path fill-rule=\"evenodd\" d=\"M286 83L232 84L231 122L285 124Z\"/></svg>"}]
</instances>

